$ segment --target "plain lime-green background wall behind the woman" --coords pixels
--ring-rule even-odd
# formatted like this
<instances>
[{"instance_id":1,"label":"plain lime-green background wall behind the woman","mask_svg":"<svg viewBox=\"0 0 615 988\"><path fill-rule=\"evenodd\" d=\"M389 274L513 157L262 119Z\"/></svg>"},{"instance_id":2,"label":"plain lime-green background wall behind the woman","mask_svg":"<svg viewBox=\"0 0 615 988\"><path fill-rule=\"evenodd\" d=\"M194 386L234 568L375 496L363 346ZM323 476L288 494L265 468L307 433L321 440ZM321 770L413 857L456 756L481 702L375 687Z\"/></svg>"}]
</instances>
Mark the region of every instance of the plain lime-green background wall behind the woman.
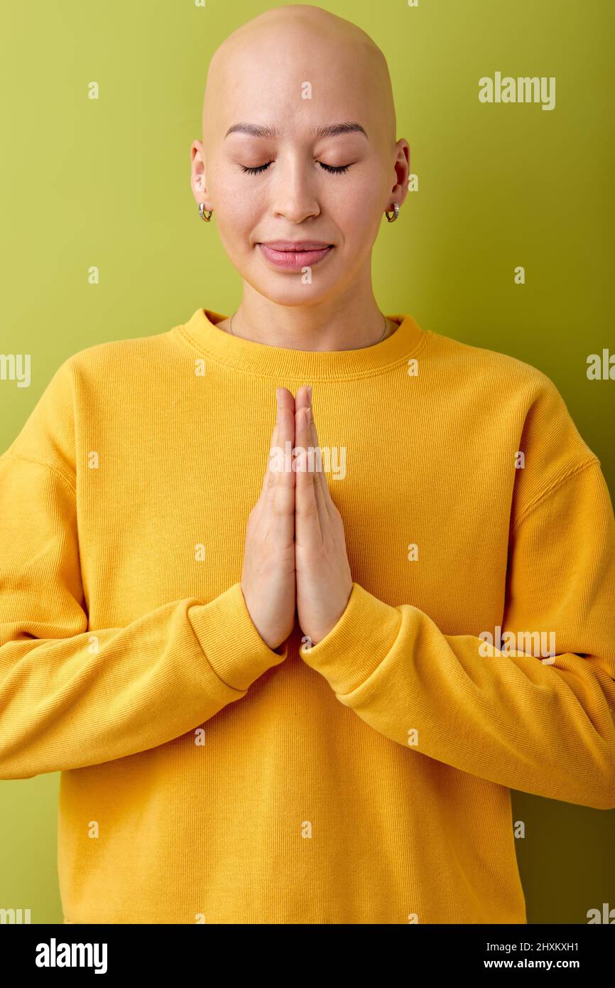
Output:
<instances>
[{"instance_id":1,"label":"plain lime-green background wall behind the woman","mask_svg":"<svg viewBox=\"0 0 615 988\"><path fill-rule=\"evenodd\" d=\"M275 3L31 2L3 9L1 353L32 355L32 384L0 381L0 452L52 373L96 343L165 332L198 305L230 314L241 282L190 190L210 54ZM366 31L393 79L411 193L374 248L388 313L511 354L556 383L615 491L611 0L322 3ZM487 104L481 76L555 76L556 108ZM88 99L88 84L100 99ZM100 284L88 269L100 268ZM522 265L526 284L513 281ZM477 383L480 387L480 382ZM0 711L1 716L1 711ZM61 922L57 774L0 782L0 907ZM480 809L480 808L479 808ZM615 811L513 792L530 923L615 907Z\"/></svg>"}]
</instances>

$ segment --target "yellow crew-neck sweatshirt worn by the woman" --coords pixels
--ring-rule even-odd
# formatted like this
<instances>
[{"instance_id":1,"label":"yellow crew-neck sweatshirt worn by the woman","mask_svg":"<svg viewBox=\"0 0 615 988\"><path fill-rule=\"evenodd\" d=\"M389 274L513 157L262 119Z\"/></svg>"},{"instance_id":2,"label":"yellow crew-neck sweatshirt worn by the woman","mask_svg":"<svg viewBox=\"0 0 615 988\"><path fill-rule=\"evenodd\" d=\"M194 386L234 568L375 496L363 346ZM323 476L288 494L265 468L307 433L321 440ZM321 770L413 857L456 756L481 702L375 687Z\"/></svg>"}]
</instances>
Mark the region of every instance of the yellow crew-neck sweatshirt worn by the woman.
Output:
<instances>
[{"instance_id":1,"label":"yellow crew-neck sweatshirt worn by the woman","mask_svg":"<svg viewBox=\"0 0 615 988\"><path fill-rule=\"evenodd\" d=\"M410 315L336 352L222 318L69 358L0 457L0 778L62 773L65 919L524 923L509 788L615 807L599 460ZM354 583L278 654L241 569L304 383Z\"/></svg>"}]
</instances>

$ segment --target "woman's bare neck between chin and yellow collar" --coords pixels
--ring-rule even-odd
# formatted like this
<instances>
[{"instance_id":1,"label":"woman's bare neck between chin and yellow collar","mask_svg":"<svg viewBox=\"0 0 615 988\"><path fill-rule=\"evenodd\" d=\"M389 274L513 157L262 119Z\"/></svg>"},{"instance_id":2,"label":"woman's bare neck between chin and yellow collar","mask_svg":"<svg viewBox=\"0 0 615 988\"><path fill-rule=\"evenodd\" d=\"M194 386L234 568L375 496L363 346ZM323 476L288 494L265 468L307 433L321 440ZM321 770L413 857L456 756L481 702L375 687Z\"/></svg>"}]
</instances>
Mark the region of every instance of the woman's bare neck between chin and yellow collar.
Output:
<instances>
[{"instance_id":1,"label":"woman's bare neck between chin and yellow collar","mask_svg":"<svg viewBox=\"0 0 615 988\"><path fill-rule=\"evenodd\" d=\"M221 329L227 332L230 318ZM313 305L279 304L244 283L233 315L233 336L287 350L355 350L386 339L397 324L386 322L371 290L353 286L342 296Z\"/></svg>"}]
</instances>

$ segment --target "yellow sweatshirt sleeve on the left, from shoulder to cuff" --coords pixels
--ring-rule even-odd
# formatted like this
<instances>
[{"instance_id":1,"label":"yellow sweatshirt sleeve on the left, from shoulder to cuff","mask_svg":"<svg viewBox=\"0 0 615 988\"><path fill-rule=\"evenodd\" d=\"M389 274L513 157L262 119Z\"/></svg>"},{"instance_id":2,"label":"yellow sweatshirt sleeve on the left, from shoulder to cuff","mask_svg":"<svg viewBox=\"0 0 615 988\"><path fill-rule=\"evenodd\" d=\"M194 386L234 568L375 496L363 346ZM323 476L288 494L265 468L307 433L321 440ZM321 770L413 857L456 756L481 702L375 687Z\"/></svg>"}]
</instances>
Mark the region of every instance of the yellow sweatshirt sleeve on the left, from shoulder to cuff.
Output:
<instances>
[{"instance_id":1,"label":"yellow sweatshirt sleeve on the left, from shoulder to cuff","mask_svg":"<svg viewBox=\"0 0 615 988\"><path fill-rule=\"evenodd\" d=\"M0 779L165 744L287 656L261 638L240 583L88 628L60 371L0 456Z\"/></svg>"}]
</instances>

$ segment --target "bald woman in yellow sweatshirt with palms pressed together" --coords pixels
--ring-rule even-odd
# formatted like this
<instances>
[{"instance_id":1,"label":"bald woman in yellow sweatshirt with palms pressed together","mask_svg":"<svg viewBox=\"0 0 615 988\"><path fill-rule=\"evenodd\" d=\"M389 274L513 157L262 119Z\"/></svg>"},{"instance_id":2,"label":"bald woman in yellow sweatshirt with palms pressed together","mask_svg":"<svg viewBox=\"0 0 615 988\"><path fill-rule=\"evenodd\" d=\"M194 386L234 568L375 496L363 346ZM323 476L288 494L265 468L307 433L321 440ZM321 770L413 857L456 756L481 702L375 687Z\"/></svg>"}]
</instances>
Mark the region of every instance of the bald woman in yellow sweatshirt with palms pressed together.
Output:
<instances>
[{"instance_id":1,"label":"bald woman in yellow sweatshirt with palms pressed together","mask_svg":"<svg viewBox=\"0 0 615 988\"><path fill-rule=\"evenodd\" d=\"M69 358L0 457L0 773L62 773L65 922L524 924L510 788L615 806L599 460L377 304L410 158L364 32L241 27L191 163L236 311Z\"/></svg>"}]
</instances>

